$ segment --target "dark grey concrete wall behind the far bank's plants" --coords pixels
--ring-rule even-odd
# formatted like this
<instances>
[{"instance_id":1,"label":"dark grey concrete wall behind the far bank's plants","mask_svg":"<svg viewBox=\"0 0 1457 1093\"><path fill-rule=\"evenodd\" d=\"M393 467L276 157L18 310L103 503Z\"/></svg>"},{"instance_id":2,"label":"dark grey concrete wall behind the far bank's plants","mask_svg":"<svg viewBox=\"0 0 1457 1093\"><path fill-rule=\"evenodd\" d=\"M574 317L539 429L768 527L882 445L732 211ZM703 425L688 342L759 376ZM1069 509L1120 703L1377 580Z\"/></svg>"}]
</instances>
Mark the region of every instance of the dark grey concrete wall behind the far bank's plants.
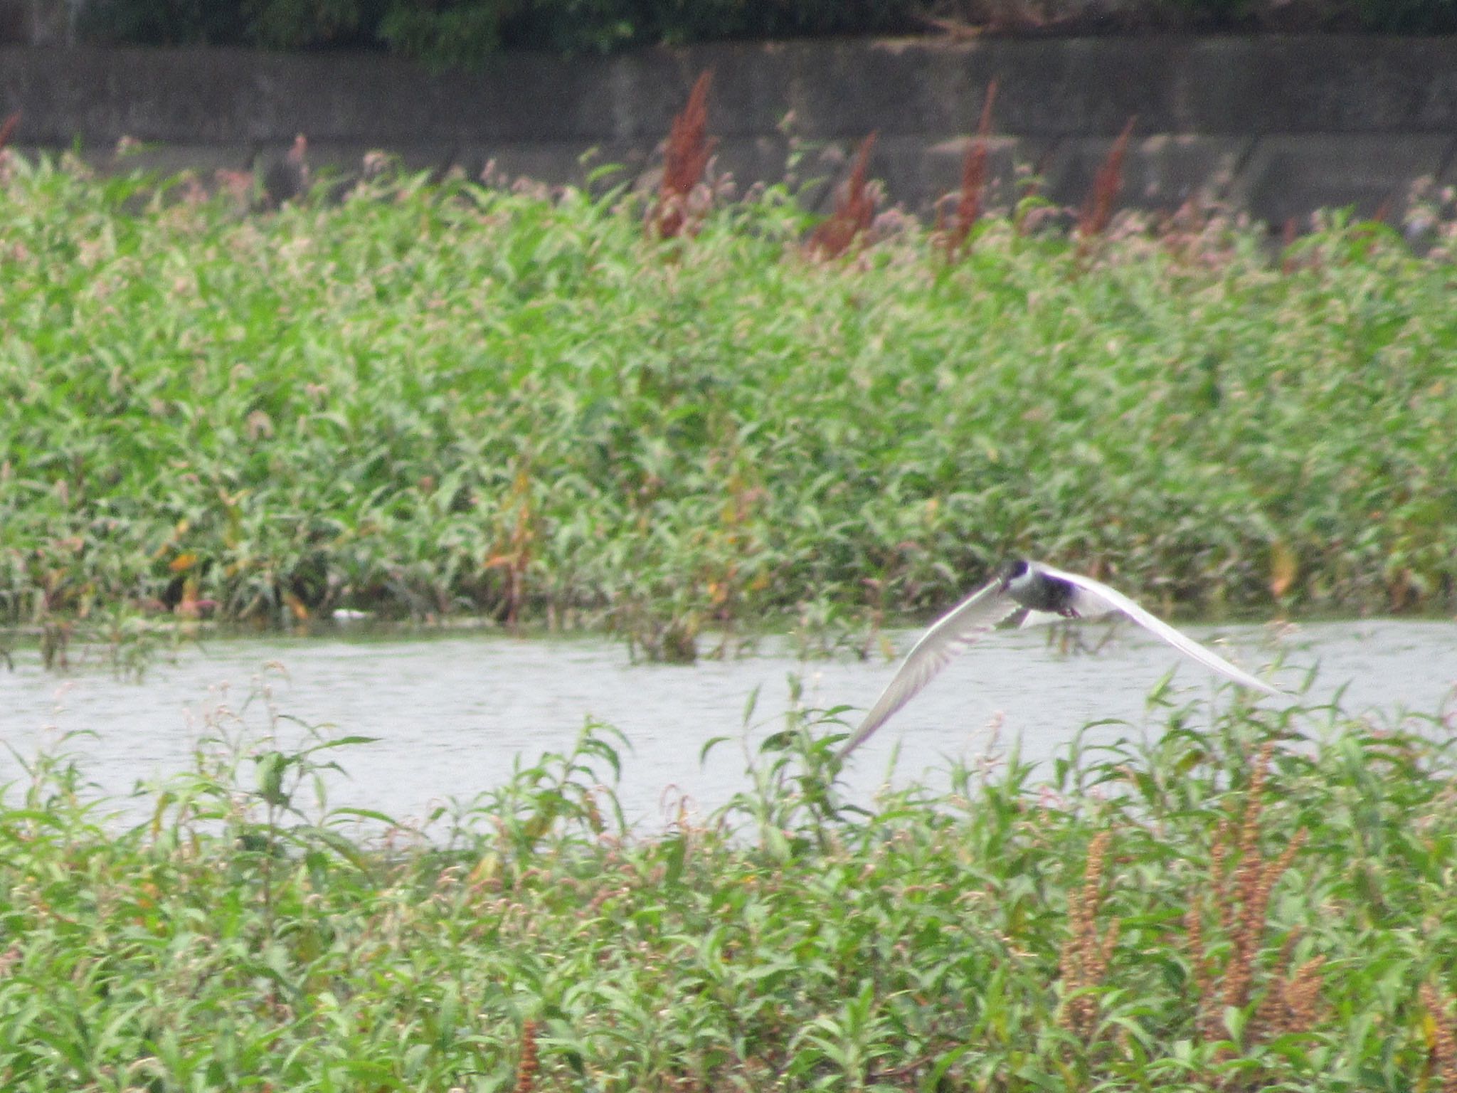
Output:
<instances>
[{"instance_id":1,"label":"dark grey concrete wall behind the far bank's plants","mask_svg":"<svg viewBox=\"0 0 1457 1093\"><path fill-rule=\"evenodd\" d=\"M1132 117L1131 205L1205 195L1284 224L1348 204L1399 214L1418 179L1457 181L1457 38L727 44L507 55L453 74L366 54L0 47L0 117L22 111L22 147L79 141L102 165L130 137L152 146L133 165L267 169L303 133L316 166L353 169L383 149L411 166L494 162L571 182L603 162L648 175L704 68L720 166L740 187L779 181L794 141L810 150L798 176L826 179L820 201L877 131L873 173L928 211L956 188L992 79L992 201L1030 172L1053 201L1080 204Z\"/></svg>"}]
</instances>

